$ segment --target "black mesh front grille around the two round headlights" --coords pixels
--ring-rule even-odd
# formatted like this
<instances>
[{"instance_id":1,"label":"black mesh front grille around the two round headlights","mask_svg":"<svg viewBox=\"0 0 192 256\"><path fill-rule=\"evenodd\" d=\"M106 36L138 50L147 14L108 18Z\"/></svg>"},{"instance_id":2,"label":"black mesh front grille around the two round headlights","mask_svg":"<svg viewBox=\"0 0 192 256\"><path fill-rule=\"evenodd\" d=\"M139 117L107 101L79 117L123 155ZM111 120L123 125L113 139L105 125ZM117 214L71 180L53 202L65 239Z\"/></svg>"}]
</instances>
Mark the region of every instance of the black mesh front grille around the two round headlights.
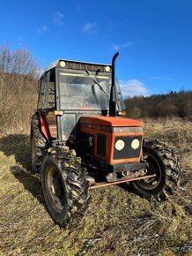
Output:
<instances>
[{"instance_id":1,"label":"black mesh front grille around the two round headlights","mask_svg":"<svg viewBox=\"0 0 192 256\"><path fill-rule=\"evenodd\" d=\"M115 148L115 143L117 140L122 139L124 142L124 147L122 150L118 150ZM139 147L137 149L133 149L131 147L131 142L133 139L139 140ZM114 139L114 160L118 159L129 159L129 158L137 158L140 155L141 152L141 143L142 143L142 136L116 136Z\"/></svg>"}]
</instances>

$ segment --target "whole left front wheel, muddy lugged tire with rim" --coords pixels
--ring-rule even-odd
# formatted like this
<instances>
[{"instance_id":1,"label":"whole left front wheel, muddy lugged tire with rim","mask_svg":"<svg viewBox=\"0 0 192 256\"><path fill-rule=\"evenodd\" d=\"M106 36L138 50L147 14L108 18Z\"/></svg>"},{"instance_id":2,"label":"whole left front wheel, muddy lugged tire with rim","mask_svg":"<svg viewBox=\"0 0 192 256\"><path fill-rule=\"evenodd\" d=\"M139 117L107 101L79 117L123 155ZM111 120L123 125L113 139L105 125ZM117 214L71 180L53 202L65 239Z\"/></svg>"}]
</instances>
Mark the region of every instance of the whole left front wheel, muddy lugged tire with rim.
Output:
<instances>
[{"instance_id":1,"label":"whole left front wheel, muddy lugged tire with rim","mask_svg":"<svg viewBox=\"0 0 192 256\"><path fill-rule=\"evenodd\" d=\"M41 184L48 212L60 227L85 214L91 199L85 169L68 147L51 147L41 168Z\"/></svg>"}]
</instances>

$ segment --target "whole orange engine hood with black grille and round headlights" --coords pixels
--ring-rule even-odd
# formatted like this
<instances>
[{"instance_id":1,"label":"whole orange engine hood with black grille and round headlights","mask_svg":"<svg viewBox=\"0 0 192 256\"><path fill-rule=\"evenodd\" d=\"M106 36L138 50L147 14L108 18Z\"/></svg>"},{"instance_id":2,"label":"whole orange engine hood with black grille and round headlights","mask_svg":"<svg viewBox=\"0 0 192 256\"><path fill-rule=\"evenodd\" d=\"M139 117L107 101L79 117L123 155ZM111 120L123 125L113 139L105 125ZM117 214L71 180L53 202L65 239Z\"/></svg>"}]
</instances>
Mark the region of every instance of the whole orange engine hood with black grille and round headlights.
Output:
<instances>
[{"instance_id":1,"label":"whole orange engine hood with black grille and round headlights","mask_svg":"<svg viewBox=\"0 0 192 256\"><path fill-rule=\"evenodd\" d=\"M140 162L142 122L121 117L80 117L80 129L90 135L90 145L97 159L109 164ZM118 147L118 143L123 147Z\"/></svg>"}]
</instances>

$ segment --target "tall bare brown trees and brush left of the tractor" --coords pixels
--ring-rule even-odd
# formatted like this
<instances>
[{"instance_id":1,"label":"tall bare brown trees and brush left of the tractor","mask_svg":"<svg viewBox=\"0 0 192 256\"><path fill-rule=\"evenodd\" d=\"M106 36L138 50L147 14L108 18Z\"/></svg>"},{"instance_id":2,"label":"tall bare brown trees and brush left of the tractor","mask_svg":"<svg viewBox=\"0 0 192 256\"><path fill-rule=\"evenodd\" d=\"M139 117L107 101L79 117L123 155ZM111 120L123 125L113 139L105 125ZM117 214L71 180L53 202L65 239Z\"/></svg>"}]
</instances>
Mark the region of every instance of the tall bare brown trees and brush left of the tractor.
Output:
<instances>
[{"instance_id":1,"label":"tall bare brown trees and brush left of the tractor","mask_svg":"<svg viewBox=\"0 0 192 256\"><path fill-rule=\"evenodd\" d=\"M0 131L29 127L37 102L39 65L26 49L0 47Z\"/></svg>"}]
</instances>

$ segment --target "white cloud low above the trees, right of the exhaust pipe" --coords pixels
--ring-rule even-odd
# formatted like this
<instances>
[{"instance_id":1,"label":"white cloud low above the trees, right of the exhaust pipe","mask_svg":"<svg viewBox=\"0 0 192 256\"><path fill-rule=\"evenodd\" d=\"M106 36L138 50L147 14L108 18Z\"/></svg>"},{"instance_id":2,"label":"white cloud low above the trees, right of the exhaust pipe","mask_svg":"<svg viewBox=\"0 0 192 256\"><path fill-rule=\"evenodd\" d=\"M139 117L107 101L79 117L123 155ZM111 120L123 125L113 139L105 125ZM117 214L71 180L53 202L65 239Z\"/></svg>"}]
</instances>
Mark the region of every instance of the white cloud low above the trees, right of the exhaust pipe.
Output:
<instances>
[{"instance_id":1,"label":"white cloud low above the trees, right of the exhaust pipe","mask_svg":"<svg viewBox=\"0 0 192 256\"><path fill-rule=\"evenodd\" d=\"M149 91L144 86L142 81L138 79L129 79L128 81L120 81L122 88L122 95L126 96L136 96L136 95L148 95Z\"/></svg>"}]
</instances>

